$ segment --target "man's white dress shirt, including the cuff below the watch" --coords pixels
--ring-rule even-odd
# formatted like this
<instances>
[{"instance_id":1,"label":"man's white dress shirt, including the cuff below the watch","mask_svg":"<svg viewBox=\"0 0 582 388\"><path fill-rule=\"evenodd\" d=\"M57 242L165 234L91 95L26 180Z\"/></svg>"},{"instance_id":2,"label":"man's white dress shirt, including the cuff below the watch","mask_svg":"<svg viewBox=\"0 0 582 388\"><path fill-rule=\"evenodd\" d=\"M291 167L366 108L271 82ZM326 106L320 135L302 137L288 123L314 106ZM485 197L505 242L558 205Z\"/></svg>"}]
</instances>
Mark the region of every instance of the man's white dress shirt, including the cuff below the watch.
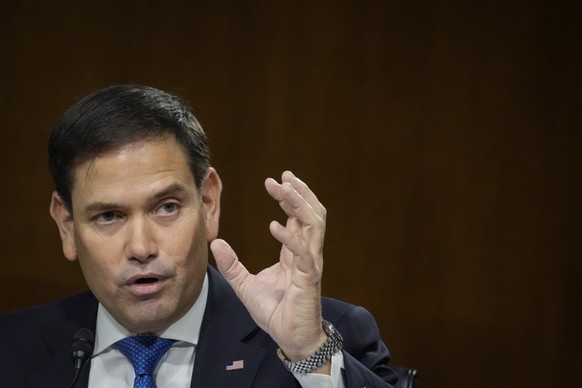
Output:
<instances>
[{"instance_id":1,"label":"man's white dress shirt, including the cuff below the watch","mask_svg":"<svg viewBox=\"0 0 582 388\"><path fill-rule=\"evenodd\" d=\"M208 275L204 278L200 296L186 314L166 330L157 333L160 337L175 339L168 352L162 357L153 377L160 388L190 388L196 345L200 335L202 317L208 298ZM115 347L115 342L135 335L99 304L95 349L91 358L89 388L131 388L135 372L131 362ZM302 387L343 388L341 378L343 355L337 353L332 358L331 376L320 374L295 375Z\"/></svg>"}]
</instances>

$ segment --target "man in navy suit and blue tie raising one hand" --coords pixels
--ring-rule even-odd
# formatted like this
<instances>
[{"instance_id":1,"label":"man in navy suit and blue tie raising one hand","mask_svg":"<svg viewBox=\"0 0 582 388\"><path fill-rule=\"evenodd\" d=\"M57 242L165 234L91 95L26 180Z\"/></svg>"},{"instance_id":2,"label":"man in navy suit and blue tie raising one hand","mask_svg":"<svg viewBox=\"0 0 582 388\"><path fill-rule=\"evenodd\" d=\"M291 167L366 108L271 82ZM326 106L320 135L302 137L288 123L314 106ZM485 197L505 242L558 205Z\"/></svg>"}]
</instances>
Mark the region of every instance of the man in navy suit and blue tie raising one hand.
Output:
<instances>
[{"instance_id":1,"label":"man in navy suit and blue tie raising one hand","mask_svg":"<svg viewBox=\"0 0 582 388\"><path fill-rule=\"evenodd\" d=\"M0 318L0 387L394 382L369 313L321 298L325 209L299 178L265 182L288 216L270 225L278 263L250 274L217 238L221 180L177 97L129 85L85 97L54 128L49 166L50 213L90 292ZM95 343L75 382L71 341L82 328ZM145 372L135 359L144 354L155 358Z\"/></svg>"}]
</instances>

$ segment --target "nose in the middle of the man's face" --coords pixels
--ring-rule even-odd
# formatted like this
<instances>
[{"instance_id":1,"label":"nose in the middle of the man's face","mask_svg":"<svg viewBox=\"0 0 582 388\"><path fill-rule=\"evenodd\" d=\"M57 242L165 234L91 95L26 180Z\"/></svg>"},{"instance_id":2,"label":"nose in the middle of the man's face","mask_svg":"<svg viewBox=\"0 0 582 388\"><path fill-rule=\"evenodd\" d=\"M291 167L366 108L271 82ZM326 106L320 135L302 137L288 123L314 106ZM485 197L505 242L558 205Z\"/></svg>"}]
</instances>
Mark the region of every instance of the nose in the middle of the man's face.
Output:
<instances>
[{"instance_id":1,"label":"nose in the middle of the man's face","mask_svg":"<svg viewBox=\"0 0 582 388\"><path fill-rule=\"evenodd\" d=\"M154 225L147 216L135 216L127 227L126 255L130 260L141 263L148 262L158 255L158 246L155 238Z\"/></svg>"}]
</instances>

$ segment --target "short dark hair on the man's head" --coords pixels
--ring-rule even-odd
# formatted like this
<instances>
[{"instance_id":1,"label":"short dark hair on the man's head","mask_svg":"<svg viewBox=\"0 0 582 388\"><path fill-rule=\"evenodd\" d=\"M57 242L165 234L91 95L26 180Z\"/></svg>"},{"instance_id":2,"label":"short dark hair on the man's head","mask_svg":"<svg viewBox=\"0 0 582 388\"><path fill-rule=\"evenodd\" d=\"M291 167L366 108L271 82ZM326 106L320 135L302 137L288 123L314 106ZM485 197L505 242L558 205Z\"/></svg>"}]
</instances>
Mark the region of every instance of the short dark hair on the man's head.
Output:
<instances>
[{"instance_id":1,"label":"short dark hair on the man's head","mask_svg":"<svg viewBox=\"0 0 582 388\"><path fill-rule=\"evenodd\" d=\"M188 158L200 189L210 167L208 139L177 96L142 85L114 85L73 104L49 137L55 190L72 212L75 168L104 152L138 141L173 136Z\"/></svg>"}]
</instances>

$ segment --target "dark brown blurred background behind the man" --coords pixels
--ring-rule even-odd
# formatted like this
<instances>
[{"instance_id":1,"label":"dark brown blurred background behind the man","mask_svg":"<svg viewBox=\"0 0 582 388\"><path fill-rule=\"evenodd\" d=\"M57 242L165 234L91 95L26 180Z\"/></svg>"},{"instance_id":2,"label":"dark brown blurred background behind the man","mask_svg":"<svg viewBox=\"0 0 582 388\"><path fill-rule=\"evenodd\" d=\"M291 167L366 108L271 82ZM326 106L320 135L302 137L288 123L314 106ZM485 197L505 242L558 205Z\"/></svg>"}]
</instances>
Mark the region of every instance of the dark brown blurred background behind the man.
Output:
<instances>
[{"instance_id":1,"label":"dark brown blurred background behind the man","mask_svg":"<svg viewBox=\"0 0 582 388\"><path fill-rule=\"evenodd\" d=\"M221 235L252 270L283 219L263 180L291 169L329 212L325 294L367 307L423 387L582 386L575 4L3 2L0 312L84 288L47 211L48 132L142 83L206 129Z\"/></svg>"}]
</instances>

